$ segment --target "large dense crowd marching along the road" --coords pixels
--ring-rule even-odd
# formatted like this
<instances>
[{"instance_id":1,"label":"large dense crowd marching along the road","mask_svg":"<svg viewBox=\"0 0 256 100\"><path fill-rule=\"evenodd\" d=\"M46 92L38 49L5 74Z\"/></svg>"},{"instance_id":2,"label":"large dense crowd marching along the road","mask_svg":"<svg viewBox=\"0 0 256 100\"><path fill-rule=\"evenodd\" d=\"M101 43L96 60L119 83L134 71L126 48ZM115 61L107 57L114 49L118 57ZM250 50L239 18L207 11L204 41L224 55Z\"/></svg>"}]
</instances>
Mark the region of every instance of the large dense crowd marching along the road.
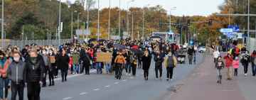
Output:
<instances>
[{"instance_id":1,"label":"large dense crowd marching along the road","mask_svg":"<svg viewBox=\"0 0 256 100\"><path fill-rule=\"evenodd\" d=\"M7 99L11 87L11 100L15 100L17 94L18 99L23 100L23 90L27 87L28 100L39 100L41 87L47 87L46 79L49 87L54 86L59 73L61 81L67 82L68 74L89 75L91 69L96 69L97 74L114 73L116 79L122 79L122 73L136 77L137 69L142 69L144 79L148 80L151 62L155 62L156 79L162 79L165 67L166 81L169 81L177 65L178 49L175 43L142 40L65 43L59 47L31 44L22 50L9 45L0 51L0 99ZM97 52L112 53L112 61L97 62ZM192 64L194 49L189 48L188 55Z\"/></svg>"}]
</instances>

